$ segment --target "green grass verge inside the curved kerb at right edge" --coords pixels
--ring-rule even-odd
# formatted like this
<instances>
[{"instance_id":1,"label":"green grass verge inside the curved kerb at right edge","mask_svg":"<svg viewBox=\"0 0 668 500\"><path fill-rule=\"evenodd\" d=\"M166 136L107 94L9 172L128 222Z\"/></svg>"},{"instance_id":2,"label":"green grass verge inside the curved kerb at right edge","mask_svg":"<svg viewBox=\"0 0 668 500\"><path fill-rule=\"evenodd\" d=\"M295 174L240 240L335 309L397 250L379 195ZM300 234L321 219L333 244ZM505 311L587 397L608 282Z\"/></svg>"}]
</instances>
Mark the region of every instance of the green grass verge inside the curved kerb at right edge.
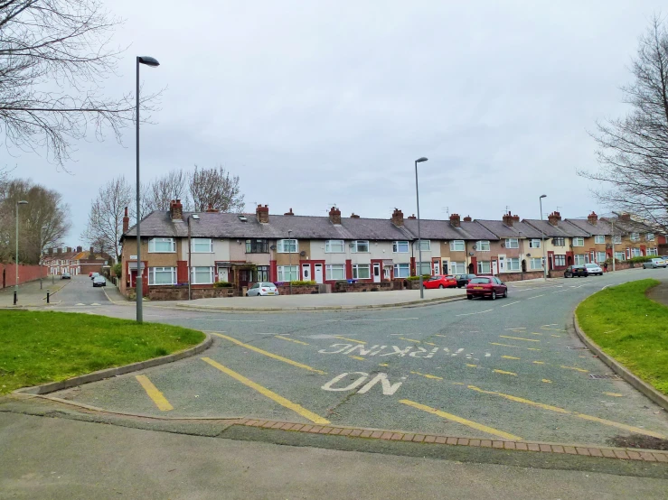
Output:
<instances>
[{"instance_id":1,"label":"green grass verge inside the curved kerb at right edge","mask_svg":"<svg viewBox=\"0 0 668 500\"><path fill-rule=\"evenodd\" d=\"M608 355L668 394L668 307L645 296L657 284L640 280L609 287L583 301L576 315Z\"/></svg>"}]
</instances>

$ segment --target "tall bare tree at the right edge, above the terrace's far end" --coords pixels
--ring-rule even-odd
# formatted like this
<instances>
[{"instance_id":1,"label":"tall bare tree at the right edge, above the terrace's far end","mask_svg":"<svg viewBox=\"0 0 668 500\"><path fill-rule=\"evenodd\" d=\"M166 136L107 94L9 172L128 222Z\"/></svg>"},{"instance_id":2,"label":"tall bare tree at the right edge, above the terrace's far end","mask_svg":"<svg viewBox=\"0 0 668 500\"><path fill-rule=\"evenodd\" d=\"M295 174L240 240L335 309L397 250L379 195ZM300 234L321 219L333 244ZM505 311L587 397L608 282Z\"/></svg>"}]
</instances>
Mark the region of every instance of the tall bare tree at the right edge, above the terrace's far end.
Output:
<instances>
[{"instance_id":1,"label":"tall bare tree at the right edge, above the terrace's far end","mask_svg":"<svg viewBox=\"0 0 668 500\"><path fill-rule=\"evenodd\" d=\"M622 88L631 110L597 123L600 169L579 175L602 183L594 191L602 204L668 229L668 32L656 15L631 70L635 78Z\"/></svg>"}]
</instances>

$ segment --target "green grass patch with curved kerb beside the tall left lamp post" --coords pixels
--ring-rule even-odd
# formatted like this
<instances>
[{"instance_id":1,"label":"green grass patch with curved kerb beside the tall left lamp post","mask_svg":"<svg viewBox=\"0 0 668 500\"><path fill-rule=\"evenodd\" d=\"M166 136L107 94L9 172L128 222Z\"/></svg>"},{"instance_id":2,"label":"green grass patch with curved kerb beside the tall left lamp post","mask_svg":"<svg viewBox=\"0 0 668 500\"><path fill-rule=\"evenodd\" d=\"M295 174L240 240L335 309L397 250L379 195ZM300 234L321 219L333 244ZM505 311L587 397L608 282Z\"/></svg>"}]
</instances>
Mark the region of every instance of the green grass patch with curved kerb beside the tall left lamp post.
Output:
<instances>
[{"instance_id":1,"label":"green grass patch with curved kerb beside the tall left lamp post","mask_svg":"<svg viewBox=\"0 0 668 500\"><path fill-rule=\"evenodd\" d=\"M0 394L199 344L201 331L68 312L0 310Z\"/></svg>"}]
</instances>

